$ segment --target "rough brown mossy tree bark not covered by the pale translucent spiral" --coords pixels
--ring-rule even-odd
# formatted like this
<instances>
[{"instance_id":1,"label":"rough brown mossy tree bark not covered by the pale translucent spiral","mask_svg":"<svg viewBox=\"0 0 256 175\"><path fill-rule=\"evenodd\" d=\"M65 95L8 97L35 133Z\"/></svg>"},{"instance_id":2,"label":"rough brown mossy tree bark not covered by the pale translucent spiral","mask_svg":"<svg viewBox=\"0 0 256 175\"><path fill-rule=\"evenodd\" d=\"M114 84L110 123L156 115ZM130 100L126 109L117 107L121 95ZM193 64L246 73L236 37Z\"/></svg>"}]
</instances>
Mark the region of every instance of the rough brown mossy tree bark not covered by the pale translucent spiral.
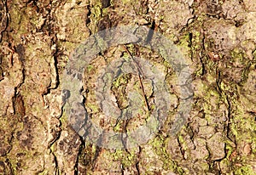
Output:
<instances>
[{"instance_id":1,"label":"rough brown mossy tree bark not covered by the pale translucent spiral","mask_svg":"<svg viewBox=\"0 0 256 175\"><path fill-rule=\"evenodd\" d=\"M255 24L255 0L0 0L0 174L255 174ZM71 127L61 75L81 42L120 25L145 25L174 42L193 70L194 98L188 121L173 135L180 99L172 65L133 44L98 54L84 70L82 93L102 128L114 123L115 131L131 131L147 120L147 105L153 108L150 82L125 75L111 85L116 106L141 106L141 116L102 115L96 77L120 56L139 54L160 68L172 98L154 138L114 150ZM127 91L139 92L133 104Z\"/></svg>"}]
</instances>

